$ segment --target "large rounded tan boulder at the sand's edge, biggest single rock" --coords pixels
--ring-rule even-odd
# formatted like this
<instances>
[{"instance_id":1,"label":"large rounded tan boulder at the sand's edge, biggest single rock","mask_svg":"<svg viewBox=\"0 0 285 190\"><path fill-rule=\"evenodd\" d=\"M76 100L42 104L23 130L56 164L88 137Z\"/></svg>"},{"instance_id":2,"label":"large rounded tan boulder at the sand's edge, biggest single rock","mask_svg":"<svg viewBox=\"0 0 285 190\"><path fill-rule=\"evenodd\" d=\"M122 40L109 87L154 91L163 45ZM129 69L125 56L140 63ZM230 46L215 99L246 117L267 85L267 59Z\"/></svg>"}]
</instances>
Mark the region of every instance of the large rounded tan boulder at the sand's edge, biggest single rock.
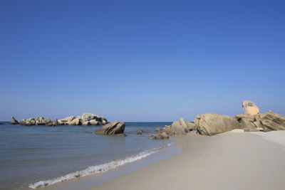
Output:
<instances>
[{"instance_id":1,"label":"large rounded tan boulder at the sand's edge, biggest single rock","mask_svg":"<svg viewBox=\"0 0 285 190\"><path fill-rule=\"evenodd\" d=\"M234 117L214 113L197 115L194 122L199 134L202 135L214 135L234 129L242 129L242 125Z\"/></svg>"}]
</instances>

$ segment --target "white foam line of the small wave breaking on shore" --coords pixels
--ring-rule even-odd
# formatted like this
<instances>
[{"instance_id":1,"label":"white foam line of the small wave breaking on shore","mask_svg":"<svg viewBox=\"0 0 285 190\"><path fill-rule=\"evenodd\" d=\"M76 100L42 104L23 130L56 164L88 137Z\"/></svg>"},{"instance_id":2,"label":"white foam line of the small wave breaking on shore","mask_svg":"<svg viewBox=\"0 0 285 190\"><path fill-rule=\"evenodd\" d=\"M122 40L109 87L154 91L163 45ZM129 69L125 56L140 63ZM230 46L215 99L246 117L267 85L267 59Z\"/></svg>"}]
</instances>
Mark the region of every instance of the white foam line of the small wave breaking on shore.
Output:
<instances>
[{"instance_id":1,"label":"white foam line of the small wave breaking on shore","mask_svg":"<svg viewBox=\"0 0 285 190\"><path fill-rule=\"evenodd\" d=\"M170 144L167 144L165 147L170 147L170 145L172 145L173 143L174 142L171 142ZM88 168L83 169L81 171L75 171L71 174L67 174L65 176L57 177L56 179L48 179L45 181L38 181L34 184L29 184L28 187L30 187L32 189L36 189L37 187L40 187L40 186L48 186L48 185L52 185L52 184L57 184L57 183L62 182L62 181L68 181L71 179L76 179L77 177L80 177L80 176L89 176L89 175L100 174L102 172L109 171L111 169L115 169L116 167L120 167L120 166L123 166L125 164L128 164L130 162L135 162L139 159L143 159L143 158L149 156L150 154L160 152L165 147L147 149L147 150L142 151L138 154L134 154L133 156L126 157L125 159L117 159L115 161L108 162L105 164L100 164L100 165L88 167Z\"/></svg>"}]
</instances>

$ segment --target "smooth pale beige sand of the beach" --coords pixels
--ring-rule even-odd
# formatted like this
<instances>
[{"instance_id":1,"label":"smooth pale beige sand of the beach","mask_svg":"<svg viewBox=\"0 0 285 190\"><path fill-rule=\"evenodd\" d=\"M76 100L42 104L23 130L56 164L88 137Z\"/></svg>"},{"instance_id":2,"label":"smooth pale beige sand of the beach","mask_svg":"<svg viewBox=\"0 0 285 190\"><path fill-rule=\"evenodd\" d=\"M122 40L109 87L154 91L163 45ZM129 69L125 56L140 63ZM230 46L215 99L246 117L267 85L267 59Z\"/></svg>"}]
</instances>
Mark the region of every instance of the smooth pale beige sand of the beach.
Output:
<instances>
[{"instance_id":1,"label":"smooth pale beige sand of the beach","mask_svg":"<svg viewBox=\"0 0 285 190\"><path fill-rule=\"evenodd\" d=\"M284 145L257 134L181 137L182 154L91 189L285 189Z\"/></svg>"}]
</instances>

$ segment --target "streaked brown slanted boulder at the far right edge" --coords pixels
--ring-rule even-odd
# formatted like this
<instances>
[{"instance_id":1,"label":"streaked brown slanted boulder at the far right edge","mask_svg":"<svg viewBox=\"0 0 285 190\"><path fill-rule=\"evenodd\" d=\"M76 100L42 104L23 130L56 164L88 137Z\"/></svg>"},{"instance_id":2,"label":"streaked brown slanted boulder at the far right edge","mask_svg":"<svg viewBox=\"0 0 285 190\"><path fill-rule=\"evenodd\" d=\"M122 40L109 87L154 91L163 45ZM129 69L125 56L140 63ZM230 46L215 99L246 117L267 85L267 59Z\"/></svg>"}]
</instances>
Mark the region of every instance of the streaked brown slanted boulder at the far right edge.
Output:
<instances>
[{"instance_id":1,"label":"streaked brown slanted boulder at the far right edge","mask_svg":"<svg viewBox=\"0 0 285 190\"><path fill-rule=\"evenodd\" d=\"M285 130L285 116L274 112L265 112L259 114L259 117L264 132Z\"/></svg>"}]
</instances>

